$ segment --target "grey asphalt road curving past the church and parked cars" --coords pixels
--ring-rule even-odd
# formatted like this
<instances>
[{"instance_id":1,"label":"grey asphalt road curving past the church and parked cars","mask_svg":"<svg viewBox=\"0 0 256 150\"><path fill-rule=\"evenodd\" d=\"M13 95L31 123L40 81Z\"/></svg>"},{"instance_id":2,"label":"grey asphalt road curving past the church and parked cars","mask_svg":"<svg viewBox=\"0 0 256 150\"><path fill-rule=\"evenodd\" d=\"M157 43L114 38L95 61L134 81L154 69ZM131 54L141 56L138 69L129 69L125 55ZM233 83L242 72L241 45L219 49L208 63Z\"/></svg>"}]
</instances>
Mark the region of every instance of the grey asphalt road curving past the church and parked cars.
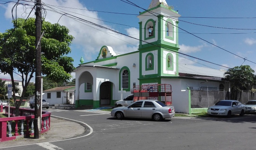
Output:
<instances>
[{"instance_id":1,"label":"grey asphalt road curving past the church and parked cars","mask_svg":"<svg viewBox=\"0 0 256 150\"><path fill-rule=\"evenodd\" d=\"M84 122L88 126L80 138L52 141L47 145L10 147L28 150L253 150L256 115L223 117L174 117L155 122L145 119L116 120L110 112L56 110L53 116ZM81 126L82 127L82 126ZM85 136L86 135L86 136ZM55 147L55 148L54 148Z\"/></svg>"}]
</instances>

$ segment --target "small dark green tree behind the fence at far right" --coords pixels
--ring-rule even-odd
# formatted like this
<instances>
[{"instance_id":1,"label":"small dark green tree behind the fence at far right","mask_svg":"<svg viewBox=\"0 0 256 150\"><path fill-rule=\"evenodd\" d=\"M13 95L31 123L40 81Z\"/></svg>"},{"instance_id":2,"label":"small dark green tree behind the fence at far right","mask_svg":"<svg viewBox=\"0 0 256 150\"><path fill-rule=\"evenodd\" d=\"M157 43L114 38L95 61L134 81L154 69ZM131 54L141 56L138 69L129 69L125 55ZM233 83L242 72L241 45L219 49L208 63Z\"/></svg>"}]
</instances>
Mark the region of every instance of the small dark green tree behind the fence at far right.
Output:
<instances>
[{"instance_id":1,"label":"small dark green tree behind the fence at far right","mask_svg":"<svg viewBox=\"0 0 256 150\"><path fill-rule=\"evenodd\" d=\"M241 65L228 69L224 73L224 80L231 82L231 99L236 100L237 93L242 90L247 90L255 81L254 70L249 65Z\"/></svg>"}]
</instances>

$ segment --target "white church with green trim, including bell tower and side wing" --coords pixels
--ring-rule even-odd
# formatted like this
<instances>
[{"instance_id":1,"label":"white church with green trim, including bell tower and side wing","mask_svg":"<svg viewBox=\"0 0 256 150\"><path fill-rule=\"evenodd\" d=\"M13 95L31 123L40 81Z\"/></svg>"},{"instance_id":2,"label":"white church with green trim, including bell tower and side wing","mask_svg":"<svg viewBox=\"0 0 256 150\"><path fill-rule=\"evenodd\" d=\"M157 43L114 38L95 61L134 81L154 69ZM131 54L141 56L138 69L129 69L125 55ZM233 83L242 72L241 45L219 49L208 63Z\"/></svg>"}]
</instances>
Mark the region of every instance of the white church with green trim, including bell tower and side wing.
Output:
<instances>
[{"instance_id":1,"label":"white church with green trim, including bell tower and side wing","mask_svg":"<svg viewBox=\"0 0 256 150\"><path fill-rule=\"evenodd\" d=\"M165 0L152 0L148 11L140 12L140 43L137 51L119 55L102 46L94 61L83 62L75 72L75 105L112 105L131 94L137 85L170 84L176 112L189 112L189 89L210 87L229 91L221 80L224 71L179 64L177 11ZM170 17L171 16L171 17ZM119 93L118 91L125 91ZM122 96L121 96L122 95Z\"/></svg>"}]
</instances>

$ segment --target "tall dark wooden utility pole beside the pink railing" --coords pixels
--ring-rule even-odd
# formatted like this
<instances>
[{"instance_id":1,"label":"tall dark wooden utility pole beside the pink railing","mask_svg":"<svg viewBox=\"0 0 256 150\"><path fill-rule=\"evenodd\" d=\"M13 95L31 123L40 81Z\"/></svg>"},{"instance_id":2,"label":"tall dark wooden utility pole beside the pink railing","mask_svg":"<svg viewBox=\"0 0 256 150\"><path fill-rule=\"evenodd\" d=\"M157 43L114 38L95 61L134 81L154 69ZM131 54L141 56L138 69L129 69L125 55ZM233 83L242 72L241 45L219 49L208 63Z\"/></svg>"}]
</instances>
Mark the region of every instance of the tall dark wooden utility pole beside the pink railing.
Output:
<instances>
[{"instance_id":1,"label":"tall dark wooden utility pole beside the pink railing","mask_svg":"<svg viewBox=\"0 0 256 150\"><path fill-rule=\"evenodd\" d=\"M41 137L41 102L42 102L42 76L41 76L41 0L36 1L35 9L35 119L34 119L34 138Z\"/></svg>"}]
</instances>

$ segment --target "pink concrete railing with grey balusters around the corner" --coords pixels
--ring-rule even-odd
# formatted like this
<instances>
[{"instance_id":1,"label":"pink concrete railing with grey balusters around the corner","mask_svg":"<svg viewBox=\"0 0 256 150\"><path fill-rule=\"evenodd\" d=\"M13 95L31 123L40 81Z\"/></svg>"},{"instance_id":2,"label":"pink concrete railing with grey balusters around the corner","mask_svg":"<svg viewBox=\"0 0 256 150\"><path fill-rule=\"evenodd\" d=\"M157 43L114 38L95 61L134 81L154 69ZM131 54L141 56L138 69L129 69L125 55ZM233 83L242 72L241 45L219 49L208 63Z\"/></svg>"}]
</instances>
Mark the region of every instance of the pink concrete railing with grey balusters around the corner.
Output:
<instances>
[{"instance_id":1,"label":"pink concrete railing with grey balusters around the corner","mask_svg":"<svg viewBox=\"0 0 256 150\"><path fill-rule=\"evenodd\" d=\"M18 136L30 137L34 135L34 110L19 108L19 116L15 116L15 112L16 108L10 107L10 117L0 118L0 142L14 140ZM5 106L5 114L8 114L8 106ZM14 129L12 129L11 124L8 125L9 123L15 124ZM24 123L26 124L26 133L24 133ZM51 112L42 111L41 134L50 129L50 124Z\"/></svg>"}]
</instances>

